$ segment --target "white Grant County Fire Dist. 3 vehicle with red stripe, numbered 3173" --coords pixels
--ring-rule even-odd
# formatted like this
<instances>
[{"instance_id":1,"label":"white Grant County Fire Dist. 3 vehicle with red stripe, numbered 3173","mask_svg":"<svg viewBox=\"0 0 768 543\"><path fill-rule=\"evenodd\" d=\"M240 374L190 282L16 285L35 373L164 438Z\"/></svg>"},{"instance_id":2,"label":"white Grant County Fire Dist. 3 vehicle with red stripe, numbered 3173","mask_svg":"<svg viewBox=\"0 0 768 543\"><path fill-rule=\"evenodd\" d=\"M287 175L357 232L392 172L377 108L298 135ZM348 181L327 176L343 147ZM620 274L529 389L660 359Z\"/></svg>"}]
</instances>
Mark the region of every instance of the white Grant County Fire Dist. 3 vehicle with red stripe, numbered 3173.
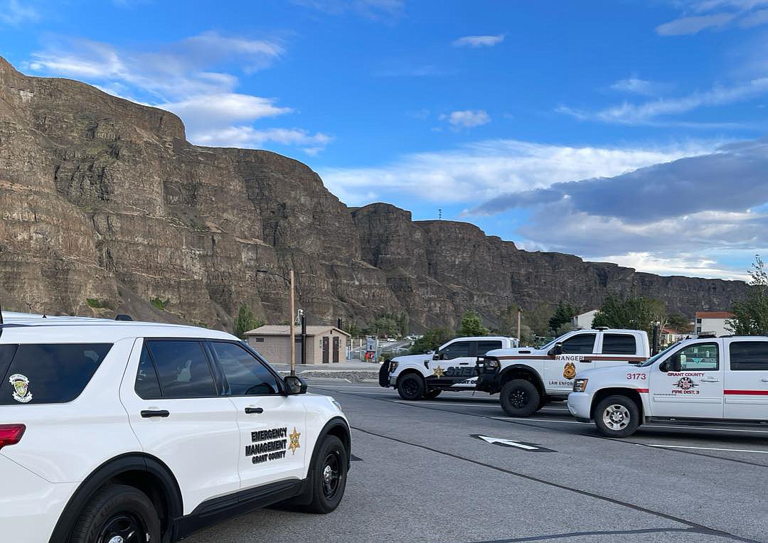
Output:
<instances>
[{"instance_id":1,"label":"white Grant County Fire Dist. 3 vehicle with red stripe, numbered 3173","mask_svg":"<svg viewBox=\"0 0 768 543\"><path fill-rule=\"evenodd\" d=\"M768 422L768 337L699 336L637 367L579 372L568 409L614 438L653 419Z\"/></svg>"}]
</instances>

